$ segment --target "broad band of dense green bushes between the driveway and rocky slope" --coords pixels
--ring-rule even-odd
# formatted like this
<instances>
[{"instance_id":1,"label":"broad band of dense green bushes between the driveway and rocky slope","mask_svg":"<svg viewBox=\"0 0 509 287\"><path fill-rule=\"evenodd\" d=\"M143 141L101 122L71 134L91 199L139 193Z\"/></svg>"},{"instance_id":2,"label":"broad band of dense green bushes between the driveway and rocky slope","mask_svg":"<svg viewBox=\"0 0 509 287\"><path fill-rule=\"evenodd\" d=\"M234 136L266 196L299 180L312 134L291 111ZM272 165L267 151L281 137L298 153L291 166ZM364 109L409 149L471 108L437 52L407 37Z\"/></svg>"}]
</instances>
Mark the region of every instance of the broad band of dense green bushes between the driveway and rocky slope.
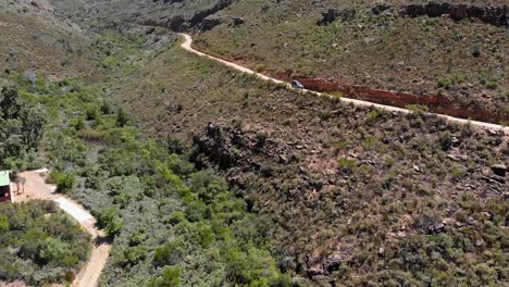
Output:
<instances>
[{"instance_id":1,"label":"broad band of dense green bushes between the driveway and rocky slope","mask_svg":"<svg viewBox=\"0 0 509 287\"><path fill-rule=\"evenodd\" d=\"M170 152L173 141L141 138L95 88L47 87L27 98L52 116L42 140L48 179L113 238L101 285L289 285L271 253L271 220L247 212L216 172Z\"/></svg>"}]
</instances>

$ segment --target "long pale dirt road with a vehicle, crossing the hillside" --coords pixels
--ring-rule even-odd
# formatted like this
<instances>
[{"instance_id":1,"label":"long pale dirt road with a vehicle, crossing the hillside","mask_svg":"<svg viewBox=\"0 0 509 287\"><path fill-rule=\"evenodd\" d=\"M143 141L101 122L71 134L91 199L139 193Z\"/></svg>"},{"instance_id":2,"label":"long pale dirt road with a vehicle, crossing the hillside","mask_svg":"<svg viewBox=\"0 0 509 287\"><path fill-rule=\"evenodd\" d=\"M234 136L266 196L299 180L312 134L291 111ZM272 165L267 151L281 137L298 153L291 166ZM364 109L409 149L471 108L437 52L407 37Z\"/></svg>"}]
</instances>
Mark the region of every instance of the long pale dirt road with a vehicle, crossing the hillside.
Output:
<instances>
[{"instance_id":1,"label":"long pale dirt road with a vehicle, crossing the hillside","mask_svg":"<svg viewBox=\"0 0 509 287\"><path fill-rule=\"evenodd\" d=\"M191 52L194 54L209 58L211 60L220 62L220 63L222 63L222 64L224 64L226 66L233 67L233 68L235 68L237 71L243 72L243 73L254 75L258 78L263 79L265 82L273 82L273 83L276 83L276 84L285 85L287 88L293 89L293 90L306 91L306 92L310 92L310 93L319 96L319 97L331 97L331 96L328 96L326 93L318 92L318 91L314 91L314 90L296 89L296 88L291 87L291 85L286 83L286 82L283 82L283 80L280 80L280 79L276 79L276 78L273 78L273 77L257 73L257 72L254 72L254 71L252 71L250 68L247 68L245 66L241 66L239 64L236 64L236 63L233 63L233 62L229 62L229 61L226 61L226 60L223 60L223 59L220 59L220 58L216 58L216 57L203 53L203 52L200 52L198 50L195 50L191 47L193 46L191 36L187 35L187 34L183 34L183 33L179 33L178 35L182 35L185 38L185 41L181 45L181 47L184 50L189 51L189 52ZM343 102L352 103L352 104L359 105L359 107L374 107L374 108L382 109L382 110L389 111L389 112L398 112L398 113L411 113L412 112L410 110L402 109L402 108L396 108L396 107L392 107L392 105L385 105L385 104L380 104L380 103L374 103L374 102L369 102L369 101L362 101L362 100L356 100L356 99L348 99L348 98L344 98L344 97L340 97L339 100L343 101ZM449 122L459 123L459 124L470 124L472 126L488 128L488 129L498 129L498 130L505 132L506 135L509 135L509 127L506 127L506 126L501 126L501 125L497 125L497 124L493 124L493 123L484 123L484 122L479 122L479 121L470 121L470 120L454 117L454 116L444 115L444 114L436 114L436 115L439 116L439 117L443 117L443 118L445 118L445 120L447 120Z\"/></svg>"}]
</instances>

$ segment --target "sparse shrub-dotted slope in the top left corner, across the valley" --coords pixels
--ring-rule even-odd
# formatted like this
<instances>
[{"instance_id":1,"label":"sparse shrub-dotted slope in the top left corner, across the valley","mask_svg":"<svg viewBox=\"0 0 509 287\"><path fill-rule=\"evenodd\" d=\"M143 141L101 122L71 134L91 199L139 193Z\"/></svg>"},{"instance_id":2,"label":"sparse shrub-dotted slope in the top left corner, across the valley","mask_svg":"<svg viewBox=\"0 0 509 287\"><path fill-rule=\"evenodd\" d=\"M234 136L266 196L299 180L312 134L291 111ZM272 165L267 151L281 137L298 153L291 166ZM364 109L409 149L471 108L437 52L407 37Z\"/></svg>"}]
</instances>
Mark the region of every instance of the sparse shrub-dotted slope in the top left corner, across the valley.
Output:
<instances>
[{"instance_id":1,"label":"sparse shrub-dotted slope in the top left corner, across the valley","mask_svg":"<svg viewBox=\"0 0 509 287\"><path fill-rule=\"evenodd\" d=\"M3 74L25 73L62 79L92 71L91 43L79 26L57 17L46 0L2 1L0 3L0 54Z\"/></svg>"}]
</instances>

